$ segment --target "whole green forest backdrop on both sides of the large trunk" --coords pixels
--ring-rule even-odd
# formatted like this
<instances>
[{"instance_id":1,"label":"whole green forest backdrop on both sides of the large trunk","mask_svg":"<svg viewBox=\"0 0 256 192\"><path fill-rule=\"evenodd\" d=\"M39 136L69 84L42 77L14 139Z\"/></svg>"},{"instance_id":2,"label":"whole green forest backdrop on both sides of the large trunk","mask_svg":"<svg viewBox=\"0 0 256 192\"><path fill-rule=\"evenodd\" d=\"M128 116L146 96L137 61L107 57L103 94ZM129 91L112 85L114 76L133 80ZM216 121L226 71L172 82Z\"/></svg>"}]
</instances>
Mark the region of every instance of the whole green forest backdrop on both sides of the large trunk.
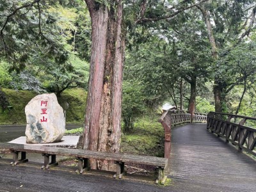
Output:
<instances>
[{"instance_id":1,"label":"whole green forest backdrop on both sides of the large trunk","mask_svg":"<svg viewBox=\"0 0 256 192\"><path fill-rule=\"evenodd\" d=\"M90 69L90 13L81 0L38 2L0 0L1 116L22 110L23 106L15 107L22 95L31 99L54 92L59 100L74 103L70 116L81 113L68 121L82 123ZM255 1L197 2L124 1L125 129L166 102L190 112L256 116ZM19 98L11 99L19 93ZM67 95L72 94L70 99ZM24 106L30 99L23 101ZM80 109L72 111L76 104Z\"/></svg>"}]
</instances>

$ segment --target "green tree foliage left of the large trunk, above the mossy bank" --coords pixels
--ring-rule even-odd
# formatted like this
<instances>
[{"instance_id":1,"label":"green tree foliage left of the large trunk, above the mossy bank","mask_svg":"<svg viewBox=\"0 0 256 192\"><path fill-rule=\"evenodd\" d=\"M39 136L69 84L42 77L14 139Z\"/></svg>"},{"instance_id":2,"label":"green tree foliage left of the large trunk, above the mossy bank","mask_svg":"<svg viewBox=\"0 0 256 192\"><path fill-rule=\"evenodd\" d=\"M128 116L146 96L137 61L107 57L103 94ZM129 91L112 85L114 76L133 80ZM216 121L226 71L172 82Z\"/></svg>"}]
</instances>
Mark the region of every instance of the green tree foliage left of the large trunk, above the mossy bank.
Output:
<instances>
[{"instance_id":1,"label":"green tree foliage left of the large trunk, above the mossy bank","mask_svg":"<svg viewBox=\"0 0 256 192\"><path fill-rule=\"evenodd\" d=\"M8 63L4 72L17 71L11 74L12 82L4 86L36 92L47 90L58 96L67 88L86 88L89 64L76 52L82 46L76 40L90 39L88 34L81 38L85 25L90 30L84 1L40 1L26 6L27 3L3 4L6 9L0 14L0 57ZM15 14L10 19L4 17L12 12Z\"/></svg>"}]
</instances>

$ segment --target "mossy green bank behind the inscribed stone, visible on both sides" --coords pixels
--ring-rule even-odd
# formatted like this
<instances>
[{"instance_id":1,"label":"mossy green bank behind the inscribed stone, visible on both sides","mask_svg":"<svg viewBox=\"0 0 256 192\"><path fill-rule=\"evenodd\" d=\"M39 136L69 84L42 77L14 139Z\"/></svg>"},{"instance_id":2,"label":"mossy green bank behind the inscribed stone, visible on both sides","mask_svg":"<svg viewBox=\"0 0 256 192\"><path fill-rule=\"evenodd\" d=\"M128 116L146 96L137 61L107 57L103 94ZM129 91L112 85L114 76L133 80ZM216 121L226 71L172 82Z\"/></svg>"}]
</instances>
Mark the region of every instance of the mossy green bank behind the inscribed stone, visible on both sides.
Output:
<instances>
[{"instance_id":1,"label":"mossy green bank behind the inscribed stone, visible on both sides","mask_svg":"<svg viewBox=\"0 0 256 192\"><path fill-rule=\"evenodd\" d=\"M5 111L0 109L0 125L26 124L25 107L37 93L5 88L3 88L3 92L10 102L10 109ZM58 98L58 101L60 104L65 101L69 104L67 109L67 123L83 123L86 92L82 88L65 90L61 97Z\"/></svg>"}]
</instances>

